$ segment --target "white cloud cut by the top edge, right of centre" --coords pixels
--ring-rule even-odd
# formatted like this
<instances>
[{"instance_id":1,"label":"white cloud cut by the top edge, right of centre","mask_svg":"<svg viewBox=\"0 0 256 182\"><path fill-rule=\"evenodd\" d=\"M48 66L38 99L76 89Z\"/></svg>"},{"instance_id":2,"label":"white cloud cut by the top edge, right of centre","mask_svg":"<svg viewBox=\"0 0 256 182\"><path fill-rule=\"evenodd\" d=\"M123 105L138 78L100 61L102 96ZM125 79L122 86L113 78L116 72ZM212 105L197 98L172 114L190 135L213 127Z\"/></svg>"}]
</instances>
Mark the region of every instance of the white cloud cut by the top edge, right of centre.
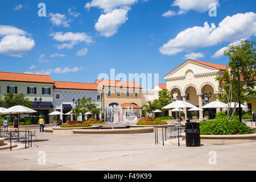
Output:
<instances>
[{"instance_id":1,"label":"white cloud cut by the top edge, right of centre","mask_svg":"<svg viewBox=\"0 0 256 182\"><path fill-rule=\"evenodd\" d=\"M172 6L178 6L180 10L195 10L204 13L209 10L210 3L216 3L217 6L220 6L218 0L175 0Z\"/></svg>"}]
</instances>

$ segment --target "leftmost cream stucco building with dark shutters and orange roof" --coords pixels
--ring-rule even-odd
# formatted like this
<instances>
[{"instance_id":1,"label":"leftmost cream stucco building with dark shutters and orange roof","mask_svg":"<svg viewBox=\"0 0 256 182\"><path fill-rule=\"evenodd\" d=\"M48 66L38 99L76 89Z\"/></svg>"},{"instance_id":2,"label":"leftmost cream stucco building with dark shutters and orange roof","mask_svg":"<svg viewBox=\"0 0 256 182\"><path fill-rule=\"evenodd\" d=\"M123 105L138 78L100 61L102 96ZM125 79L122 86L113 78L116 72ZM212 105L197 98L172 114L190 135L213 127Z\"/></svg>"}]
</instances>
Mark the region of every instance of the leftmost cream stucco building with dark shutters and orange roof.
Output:
<instances>
[{"instance_id":1,"label":"leftmost cream stucco building with dark shutters and orange roof","mask_svg":"<svg viewBox=\"0 0 256 182\"><path fill-rule=\"evenodd\" d=\"M32 101L32 109L38 113L30 114L32 123L37 123L39 115L44 115L46 123L50 123L48 114L53 109L53 80L48 75L34 75L27 73L0 72L0 96L13 92L23 93ZM35 102L42 98L39 106Z\"/></svg>"}]
</instances>

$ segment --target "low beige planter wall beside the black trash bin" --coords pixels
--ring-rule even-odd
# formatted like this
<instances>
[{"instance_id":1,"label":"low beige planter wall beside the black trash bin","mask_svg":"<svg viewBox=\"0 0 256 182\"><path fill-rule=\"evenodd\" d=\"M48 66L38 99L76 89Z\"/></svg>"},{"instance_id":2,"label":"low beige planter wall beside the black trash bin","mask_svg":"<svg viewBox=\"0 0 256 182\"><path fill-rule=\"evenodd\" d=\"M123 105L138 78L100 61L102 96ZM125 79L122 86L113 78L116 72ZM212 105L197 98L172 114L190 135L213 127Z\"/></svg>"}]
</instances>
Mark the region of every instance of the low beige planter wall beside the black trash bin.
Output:
<instances>
[{"instance_id":1,"label":"low beige planter wall beside the black trash bin","mask_svg":"<svg viewBox=\"0 0 256 182\"><path fill-rule=\"evenodd\" d=\"M181 134L182 140L186 140L185 133ZM242 135L200 135L203 144L236 144L256 142L256 133Z\"/></svg>"}]
</instances>

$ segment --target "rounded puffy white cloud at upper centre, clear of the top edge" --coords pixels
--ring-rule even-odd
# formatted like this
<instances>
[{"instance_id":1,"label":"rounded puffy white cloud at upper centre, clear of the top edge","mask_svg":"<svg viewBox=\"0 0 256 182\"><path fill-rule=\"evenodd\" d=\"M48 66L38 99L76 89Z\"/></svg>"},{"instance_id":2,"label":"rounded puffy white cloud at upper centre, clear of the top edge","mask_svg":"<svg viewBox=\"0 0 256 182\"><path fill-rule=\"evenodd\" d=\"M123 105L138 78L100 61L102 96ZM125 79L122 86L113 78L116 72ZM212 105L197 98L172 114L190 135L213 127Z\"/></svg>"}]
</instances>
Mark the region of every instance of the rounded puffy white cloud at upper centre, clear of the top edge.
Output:
<instances>
[{"instance_id":1,"label":"rounded puffy white cloud at upper centre, clear of the top edge","mask_svg":"<svg viewBox=\"0 0 256 182\"><path fill-rule=\"evenodd\" d=\"M127 10L115 9L110 13L102 14L95 24L95 28L101 35L108 38L114 35L127 19Z\"/></svg>"}]
</instances>

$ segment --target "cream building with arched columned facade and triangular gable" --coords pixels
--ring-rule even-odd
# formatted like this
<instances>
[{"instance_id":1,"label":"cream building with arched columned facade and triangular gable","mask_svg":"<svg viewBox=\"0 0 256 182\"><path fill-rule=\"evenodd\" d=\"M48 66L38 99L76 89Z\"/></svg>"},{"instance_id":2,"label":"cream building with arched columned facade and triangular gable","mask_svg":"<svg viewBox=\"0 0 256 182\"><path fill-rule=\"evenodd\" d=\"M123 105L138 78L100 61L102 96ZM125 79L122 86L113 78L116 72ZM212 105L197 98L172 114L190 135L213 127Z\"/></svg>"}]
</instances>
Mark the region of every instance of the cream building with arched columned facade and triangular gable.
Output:
<instances>
[{"instance_id":1,"label":"cream building with arched columned facade and triangular gable","mask_svg":"<svg viewBox=\"0 0 256 182\"><path fill-rule=\"evenodd\" d=\"M218 81L215 80L215 77L220 70L224 69L226 69L225 65L188 59L164 76L164 79L166 80L167 89L174 99L187 101L197 107L202 107L215 101L214 96L220 94ZM185 118L189 117L187 109L183 108ZM209 111L209 117L213 118L215 113L220 111L220 108L206 110ZM204 111L199 111L199 119L203 119L203 117Z\"/></svg>"}]
</instances>

